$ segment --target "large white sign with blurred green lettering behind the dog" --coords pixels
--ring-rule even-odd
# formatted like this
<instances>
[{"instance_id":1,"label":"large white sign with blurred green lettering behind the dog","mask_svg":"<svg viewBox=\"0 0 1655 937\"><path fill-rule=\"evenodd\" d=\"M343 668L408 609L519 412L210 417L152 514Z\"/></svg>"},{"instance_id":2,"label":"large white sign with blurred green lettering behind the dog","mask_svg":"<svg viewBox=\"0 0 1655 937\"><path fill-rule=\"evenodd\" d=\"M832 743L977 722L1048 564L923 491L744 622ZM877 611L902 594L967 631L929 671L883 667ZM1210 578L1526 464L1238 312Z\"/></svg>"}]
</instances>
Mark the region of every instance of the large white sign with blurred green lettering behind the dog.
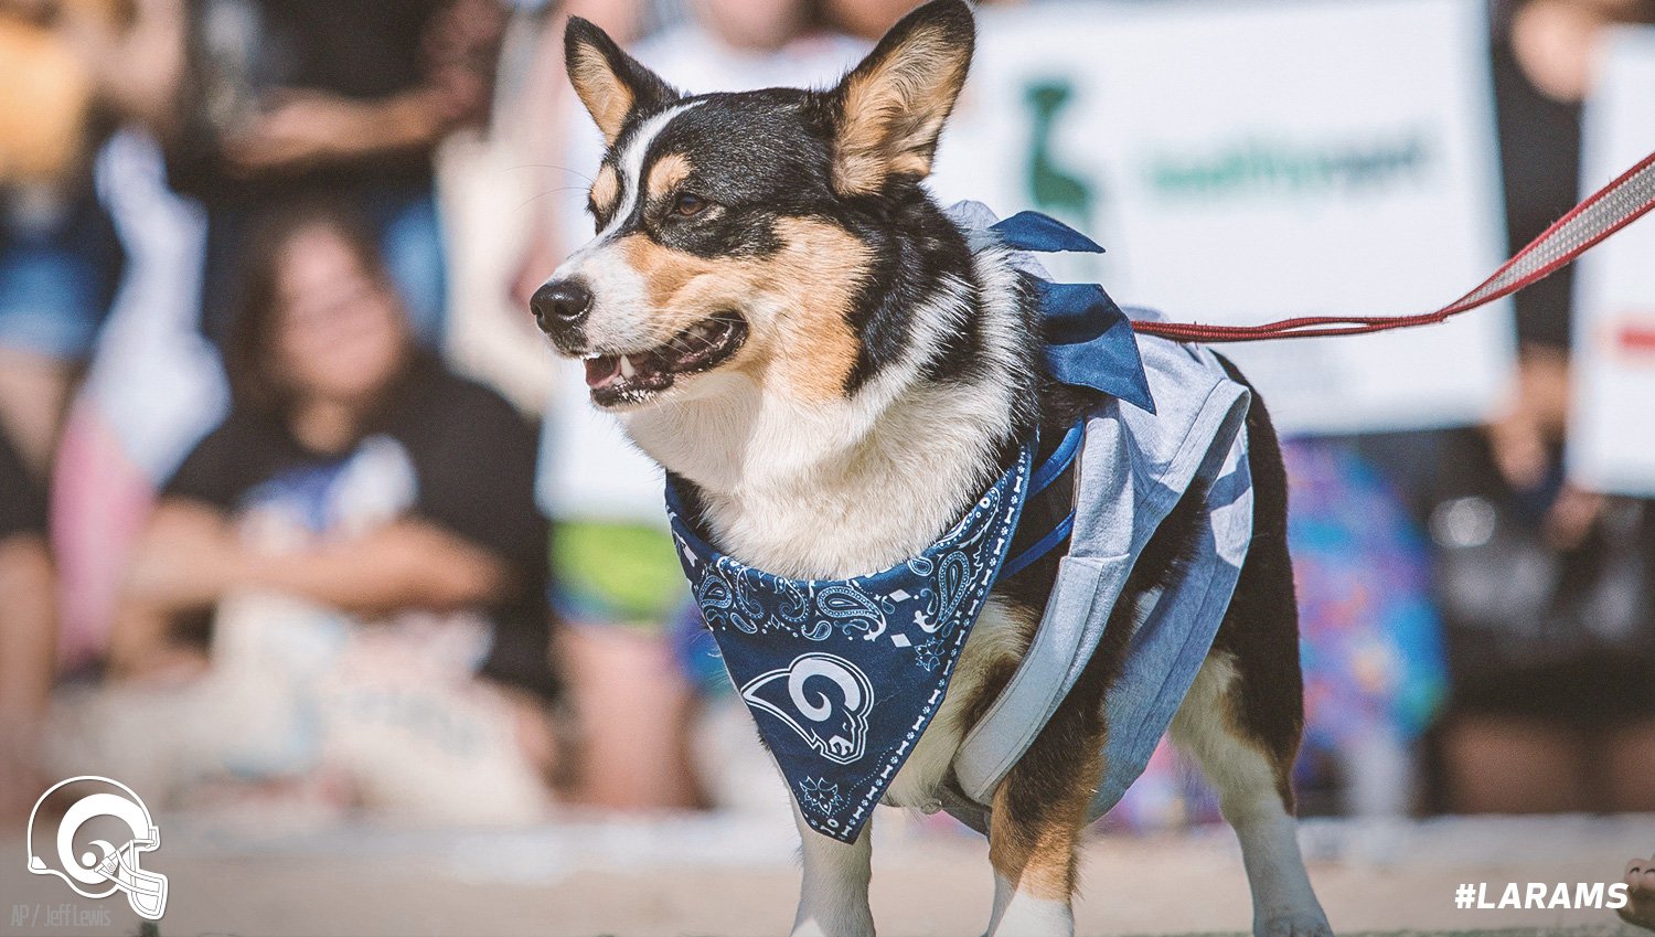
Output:
<instances>
[{"instance_id":1,"label":"large white sign with blurred green lettering behind the dog","mask_svg":"<svg viewBox=\"0 0 1655 937\"><path fill-rule=\"evenodd\" d=\"M988 10L933 187L1109 248L1051 265L1177 321L1430 311L1504 257L1483 0ZM1288 432L1476 422L1508 303L1225 346Z\"/></svg>"}]
</instances>

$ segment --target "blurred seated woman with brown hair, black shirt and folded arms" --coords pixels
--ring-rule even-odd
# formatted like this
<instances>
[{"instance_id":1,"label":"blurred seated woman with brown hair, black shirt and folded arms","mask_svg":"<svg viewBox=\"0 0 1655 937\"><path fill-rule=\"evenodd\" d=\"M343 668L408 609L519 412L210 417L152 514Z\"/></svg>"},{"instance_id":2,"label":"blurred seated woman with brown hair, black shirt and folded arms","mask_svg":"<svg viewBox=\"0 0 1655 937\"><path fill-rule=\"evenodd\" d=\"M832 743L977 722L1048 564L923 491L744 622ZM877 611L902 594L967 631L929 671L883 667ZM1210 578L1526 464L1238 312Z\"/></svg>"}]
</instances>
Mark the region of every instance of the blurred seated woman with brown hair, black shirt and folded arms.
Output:
<instances>
[{"instance_id":1,"label":"blurred seated woman with brown hair, black shirt and folded arms","mask_svg":"<svg viewBox=\"0 0 1655 937\"><path fill-rule=\"evenodd\" d=\"M161 493L111 674L199 672L202 619L278 593L348 613L362 622L353 634L482 619L477 674L511 699L554 700L535 429L414 344L359 220L291 209L253 257L225 356L232 412ZM549 723L538 728L546 768Z\"/></svg>"}]
</instances>

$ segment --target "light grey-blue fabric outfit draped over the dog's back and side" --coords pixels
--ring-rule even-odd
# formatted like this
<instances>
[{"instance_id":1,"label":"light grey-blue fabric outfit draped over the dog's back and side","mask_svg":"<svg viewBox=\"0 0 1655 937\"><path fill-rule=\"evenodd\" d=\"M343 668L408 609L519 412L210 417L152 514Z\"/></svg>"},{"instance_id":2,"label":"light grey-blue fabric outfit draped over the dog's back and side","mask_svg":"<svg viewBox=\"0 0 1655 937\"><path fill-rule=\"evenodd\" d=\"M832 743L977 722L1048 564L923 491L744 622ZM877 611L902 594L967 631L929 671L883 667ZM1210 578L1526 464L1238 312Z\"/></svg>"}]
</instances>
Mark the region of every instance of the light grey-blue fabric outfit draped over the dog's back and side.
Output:
<instances>
[{"instance_id":1,"label":"light grey-blue fabric outfit draped over the dog's back and side","mask_svg":"<svg viewBox=\"0 0 1655 937\"><path fill-rule=\"evenodd\" d=\"M993 220L978 204L950 214L967 227ZM1038 270L1031 258L1018 260ZM1157 318L1149 310L1127 313ZM1139 336L1137 344L1157 412L1109 397L1086 417L1069 553L1028 656L953 762L963 798L950 796L942 806L978 829L986 829L995 788L1091 659L1137 556L1187 490L1206 490L1208 523L1185 573L1149 599L1152 608L1109 690L1109 738L1091 818L1107 813L1144 773L1241 574L1253 536L1243 430L1251 394L1202 346L1150 336Z\"/></svg>"}]
</instances>

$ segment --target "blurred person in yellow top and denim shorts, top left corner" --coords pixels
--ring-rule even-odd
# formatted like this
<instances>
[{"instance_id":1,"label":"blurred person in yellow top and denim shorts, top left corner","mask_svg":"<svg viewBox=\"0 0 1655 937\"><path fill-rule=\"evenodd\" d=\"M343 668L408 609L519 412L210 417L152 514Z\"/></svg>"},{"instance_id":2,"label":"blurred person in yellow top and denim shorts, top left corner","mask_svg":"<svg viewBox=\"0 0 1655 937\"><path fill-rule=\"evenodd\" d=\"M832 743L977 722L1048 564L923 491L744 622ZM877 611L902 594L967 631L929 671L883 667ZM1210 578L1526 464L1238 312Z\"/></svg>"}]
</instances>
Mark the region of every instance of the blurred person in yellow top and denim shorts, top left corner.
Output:
<instances>
[{"instance_id":1,"label":"blurred person in yellow top and denim shorts, top left corner","mask_svg":"<svg viewBox=\"0 0 1655 937\"><path fill-rule=\"evenodd\" d=\"M43 478L121 248L93 154L157 119L177 78L175 0L0 0L0 424Z\"/></svg>"}]
</instances>

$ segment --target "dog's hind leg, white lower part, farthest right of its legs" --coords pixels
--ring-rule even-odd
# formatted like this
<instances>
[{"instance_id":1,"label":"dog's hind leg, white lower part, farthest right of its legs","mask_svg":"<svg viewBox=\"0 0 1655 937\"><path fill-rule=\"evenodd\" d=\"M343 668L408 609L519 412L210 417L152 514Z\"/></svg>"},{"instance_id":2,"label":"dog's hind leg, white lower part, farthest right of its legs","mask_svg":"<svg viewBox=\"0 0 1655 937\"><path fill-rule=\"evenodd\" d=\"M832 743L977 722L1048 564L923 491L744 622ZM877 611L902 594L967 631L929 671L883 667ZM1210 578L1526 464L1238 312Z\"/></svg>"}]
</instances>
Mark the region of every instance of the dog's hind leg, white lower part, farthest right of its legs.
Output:
<instances>
[{"instance_id":1,"label":"dog's hind leg, white lower part, farthest right of its legs","mask_svg":"<svg viewBox=\"0 0 1655 937\"><path fill-rule=\"evenodd\" d=\"M1195 757L1218 790L1220 810L1241 841L1253 889L1253 934L1331 937L1327 915L1304 872L1293 819L1288 780L1299 742L1296 712L1286 720L1294 723L1291 742L1246 732L1238 718L1240 682L1233 656L1211 654L1172 722L1172 738ZM1284 705L1298 709L1298 702Z\"/></svg>"}]
</instances>

